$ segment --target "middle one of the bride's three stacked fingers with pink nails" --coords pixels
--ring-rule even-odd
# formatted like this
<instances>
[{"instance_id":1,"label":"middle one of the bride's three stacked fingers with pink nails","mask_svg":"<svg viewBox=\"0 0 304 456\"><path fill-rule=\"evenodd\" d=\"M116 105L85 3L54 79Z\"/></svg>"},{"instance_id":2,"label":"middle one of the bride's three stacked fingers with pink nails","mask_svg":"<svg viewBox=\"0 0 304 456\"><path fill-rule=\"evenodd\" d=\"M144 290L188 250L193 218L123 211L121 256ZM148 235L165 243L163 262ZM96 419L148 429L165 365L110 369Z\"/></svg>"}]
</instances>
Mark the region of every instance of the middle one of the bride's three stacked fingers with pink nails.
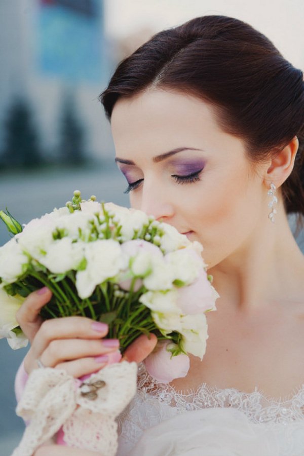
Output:
<instances>
[{"instance_id":1,"label":"middle one of the bride's three stacked fingers with pink nails","mask_svg":"<svg viewBox=\"0 0 304 456\"><path fill-rule=\"evenodd\" d=\"M118 339L54 339L40 356L41 362L48 367L58 363L88 356L107 355L119 349Z\"/></svg>"}]
</instances>

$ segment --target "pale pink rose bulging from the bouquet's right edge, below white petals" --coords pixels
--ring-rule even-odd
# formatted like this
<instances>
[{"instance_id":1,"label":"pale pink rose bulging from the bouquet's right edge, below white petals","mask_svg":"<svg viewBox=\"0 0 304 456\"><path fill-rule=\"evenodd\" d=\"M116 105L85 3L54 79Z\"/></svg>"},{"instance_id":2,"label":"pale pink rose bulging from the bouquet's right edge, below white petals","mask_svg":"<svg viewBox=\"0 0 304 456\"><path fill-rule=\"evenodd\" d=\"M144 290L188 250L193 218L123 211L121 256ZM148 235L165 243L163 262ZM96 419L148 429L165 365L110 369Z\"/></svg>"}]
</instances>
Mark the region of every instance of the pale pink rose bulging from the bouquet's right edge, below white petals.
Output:
<instances>
[{"instance_id":1,"label":"pale pink rose bulging from the bouquet's right edge, below white petals","mask_svg":"<svg viewBox=\"0 0 304 456\"><path fill-rule=\"evenodd\" d=\"M201 314L216 310L215 301L218 297L219 294L209 282L207 273L202 268L199 277L191 285L178 288L177 306L184 315Z\"/></svg>"}]
</instances>

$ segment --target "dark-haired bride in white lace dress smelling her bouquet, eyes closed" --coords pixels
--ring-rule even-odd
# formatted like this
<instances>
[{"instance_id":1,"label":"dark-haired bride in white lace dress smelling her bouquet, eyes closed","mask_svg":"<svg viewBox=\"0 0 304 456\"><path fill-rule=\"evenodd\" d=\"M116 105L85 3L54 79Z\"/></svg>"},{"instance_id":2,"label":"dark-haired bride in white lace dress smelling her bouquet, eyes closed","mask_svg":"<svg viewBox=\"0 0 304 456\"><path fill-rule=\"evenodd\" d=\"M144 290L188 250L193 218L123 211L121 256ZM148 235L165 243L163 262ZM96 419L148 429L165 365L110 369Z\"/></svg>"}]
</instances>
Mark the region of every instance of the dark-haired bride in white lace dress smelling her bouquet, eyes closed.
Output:
<instances>
[{"instance_id":1,"label":"dark-haired bride in white lace dress smelling her bouquet, eyes closed","mask_svg":"<svg viewBox=\"0 0 304 456\"><path fill-rule=\"evenodd\" d=\"M304 257L287 219L304 214L302 72L248 24L205 16L153 36L100 99L132 207L200 241L220 295L186 377L158 384L139 365L119 454L304 454ZM106 328L41 324L49 299L42 289L19 311L25 371L37 359L74 376L105 365L118 347ZM155 344L141 336L126 358L140 363Z\"/></svg>"}]
</instances>

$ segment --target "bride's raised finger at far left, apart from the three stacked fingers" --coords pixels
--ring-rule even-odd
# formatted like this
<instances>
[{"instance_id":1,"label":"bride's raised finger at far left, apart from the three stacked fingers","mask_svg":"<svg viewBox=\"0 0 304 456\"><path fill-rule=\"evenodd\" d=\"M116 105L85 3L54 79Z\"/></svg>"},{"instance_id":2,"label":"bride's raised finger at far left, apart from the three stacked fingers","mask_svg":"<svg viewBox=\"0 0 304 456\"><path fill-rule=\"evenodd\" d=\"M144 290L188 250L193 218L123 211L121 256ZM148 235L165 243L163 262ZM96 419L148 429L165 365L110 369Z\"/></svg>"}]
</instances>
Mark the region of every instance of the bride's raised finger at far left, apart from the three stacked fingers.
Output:
<instances>
[{"instance_id":1,"label":"bride's raised finger at far left, apart from the three stacked fingers","mask_svg":"<svg viewBox=\"0 0 304 456\"><path fill-rule=\"evenodd\" d=\"M30 293L16 313L16 320L27 338L32 341L39 330L42 319L40 310L52 297L52 292L47 288Z\"/></svg>"}]
</instances>

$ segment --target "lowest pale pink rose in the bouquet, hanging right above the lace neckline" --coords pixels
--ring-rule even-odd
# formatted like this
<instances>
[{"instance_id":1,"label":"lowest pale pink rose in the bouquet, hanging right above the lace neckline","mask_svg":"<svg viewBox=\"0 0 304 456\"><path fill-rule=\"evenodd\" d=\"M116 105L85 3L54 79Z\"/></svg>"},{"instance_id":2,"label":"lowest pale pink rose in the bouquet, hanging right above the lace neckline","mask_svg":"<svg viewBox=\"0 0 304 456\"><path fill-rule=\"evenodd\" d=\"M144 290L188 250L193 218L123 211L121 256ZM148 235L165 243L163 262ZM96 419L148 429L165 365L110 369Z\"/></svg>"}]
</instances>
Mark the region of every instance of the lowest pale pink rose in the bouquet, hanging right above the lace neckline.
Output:
<instances>
[{"instance_id":1,"label":"lowest pale pink rose in the bouquet, hanging right above the lace neckline","mask_svg":"<svg viewBox=\"0 0 304 456\"><path fill-rule=\"evenodd\" d=\"M175 345L164 340L158 343L154 351L144 360L147 372L161 383L172 382L174 378L185 377L188 373L190 361L184 354L172 356L167 350Z\"/></svg>"}]
</instances>

